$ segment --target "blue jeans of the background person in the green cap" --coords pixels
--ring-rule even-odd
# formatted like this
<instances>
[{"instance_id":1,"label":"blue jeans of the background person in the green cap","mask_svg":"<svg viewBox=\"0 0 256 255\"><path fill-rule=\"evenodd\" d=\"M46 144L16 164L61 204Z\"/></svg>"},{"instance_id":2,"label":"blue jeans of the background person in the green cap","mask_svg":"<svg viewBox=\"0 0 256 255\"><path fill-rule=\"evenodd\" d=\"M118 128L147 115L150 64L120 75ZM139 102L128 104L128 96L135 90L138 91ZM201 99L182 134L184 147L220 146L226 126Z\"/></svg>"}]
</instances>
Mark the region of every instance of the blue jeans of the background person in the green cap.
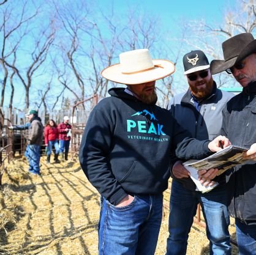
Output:
<instances>
[{"instance_id":1,"label":"blue jeans of the background person in the green cap","mask_svg":"<svg viewBox=\"0 0 256 255\"><path fill-rule=\"evenodd\" d=\"M28 171L34 174L40 174L40 149L41 146L36 144L28 144L28 146L26 147L25 157L28 158L29 162Z\"/></svg>"}]
</instances>

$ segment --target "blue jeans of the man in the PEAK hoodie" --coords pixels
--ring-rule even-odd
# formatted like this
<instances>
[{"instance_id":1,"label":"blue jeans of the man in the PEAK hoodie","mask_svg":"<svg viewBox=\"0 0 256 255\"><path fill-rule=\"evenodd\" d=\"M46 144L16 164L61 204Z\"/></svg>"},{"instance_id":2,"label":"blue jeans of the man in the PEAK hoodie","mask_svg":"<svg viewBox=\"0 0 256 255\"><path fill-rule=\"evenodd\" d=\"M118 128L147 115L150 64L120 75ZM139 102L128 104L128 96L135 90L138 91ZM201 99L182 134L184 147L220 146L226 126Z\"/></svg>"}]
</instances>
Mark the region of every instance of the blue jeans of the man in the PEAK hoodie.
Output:
<instances>
[{"instance_id":1,"label":"blue jeans of the man in the PEAK hoodie","mask_svg":"<svg viewBox=\"0 0 256 255\"><path fill-rule=\"evenodd\" d=\"M134 196L124 207L101 199L99 255L154 255L162 221L163 196Z\"/></svg>"}]
</instances>

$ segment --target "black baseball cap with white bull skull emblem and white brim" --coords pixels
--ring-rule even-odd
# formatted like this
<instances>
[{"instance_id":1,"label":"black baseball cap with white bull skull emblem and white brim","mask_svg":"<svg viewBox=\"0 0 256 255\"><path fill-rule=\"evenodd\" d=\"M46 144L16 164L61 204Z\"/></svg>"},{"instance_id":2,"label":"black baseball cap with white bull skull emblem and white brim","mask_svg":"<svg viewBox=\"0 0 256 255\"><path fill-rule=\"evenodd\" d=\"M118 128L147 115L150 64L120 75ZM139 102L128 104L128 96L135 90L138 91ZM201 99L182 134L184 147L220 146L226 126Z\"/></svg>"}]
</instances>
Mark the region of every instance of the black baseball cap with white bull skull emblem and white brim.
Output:
<instances>
[{"instance_id":1,"label":"black baseball cap with white bull skull emblem and white brim","mask_svg":"<svg viewBox=\"0 0 256 255\"><path fill-rule=\"evenodd\" d=\"M210 67L208 58L200 50L190 51L183 57L184 75L205 70Z\"/></svg>"}]
</instances>

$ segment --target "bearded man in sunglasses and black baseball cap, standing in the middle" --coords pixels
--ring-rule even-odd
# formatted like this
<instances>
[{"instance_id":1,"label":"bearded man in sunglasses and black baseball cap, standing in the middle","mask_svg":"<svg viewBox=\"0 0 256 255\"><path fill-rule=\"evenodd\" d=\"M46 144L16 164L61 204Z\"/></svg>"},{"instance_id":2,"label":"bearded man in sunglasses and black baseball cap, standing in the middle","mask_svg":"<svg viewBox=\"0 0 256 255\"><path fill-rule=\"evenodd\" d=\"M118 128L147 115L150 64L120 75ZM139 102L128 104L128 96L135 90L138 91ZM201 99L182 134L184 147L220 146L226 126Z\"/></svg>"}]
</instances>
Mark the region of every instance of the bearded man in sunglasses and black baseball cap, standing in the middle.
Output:
<instances>
[{"instance_id":1,"label":"bearded man in sunglasses and black baseball cap, standing in the middle","mask_svg":"<svg viewBox=\"0 0 256 255\"><path fill-rule=\"evenodd\" d=\"M203 51L194 50L185 54L183 65L189 89L171 98L168 109L192 137L198 140L213 139L220 134L222 109L233 94L217 89ZM231 254L225 176L214 179L219 185L212 191L202 193L196 191L195 183L190 178L189 171L184 168L183 161L173 158L171 162L173 180L167 254L186 255L187 239L198 204L205 217L211 254ZM207 174L209 173L208 171Z\"/></svg>"}]
</instances>

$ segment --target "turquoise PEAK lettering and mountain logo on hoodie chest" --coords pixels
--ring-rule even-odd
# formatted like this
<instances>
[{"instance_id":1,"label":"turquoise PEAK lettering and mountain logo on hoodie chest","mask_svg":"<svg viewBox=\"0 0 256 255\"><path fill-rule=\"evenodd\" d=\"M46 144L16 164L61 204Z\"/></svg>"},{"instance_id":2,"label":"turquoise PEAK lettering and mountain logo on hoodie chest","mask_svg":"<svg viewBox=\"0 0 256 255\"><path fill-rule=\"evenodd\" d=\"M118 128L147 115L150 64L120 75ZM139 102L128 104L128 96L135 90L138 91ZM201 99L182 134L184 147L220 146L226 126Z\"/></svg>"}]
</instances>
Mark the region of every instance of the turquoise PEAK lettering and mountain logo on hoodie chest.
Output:
<instances>
[{"instance_id":1,"label":"turquoise PEAK lettering and mountain logo on hoodie chest","mask_svg":"<svg viewBox=\"0 0 256 255\"><path fill-rule=\"evenodd\" d=\"M148 110L144 109L143 111L138 111L135 114L132 114L133 116L149 116L150 120L155 120L155 122L149 122L147 118L145 120L132 120L127 119L127 132L133 132L133 133L146 133L146 134L154 134L157 136L160 135L166 135L162 128L164 125L161 125L157 123L157 118L154 116L154 113L149 113Z\"/></svg>"}]
</instances>

